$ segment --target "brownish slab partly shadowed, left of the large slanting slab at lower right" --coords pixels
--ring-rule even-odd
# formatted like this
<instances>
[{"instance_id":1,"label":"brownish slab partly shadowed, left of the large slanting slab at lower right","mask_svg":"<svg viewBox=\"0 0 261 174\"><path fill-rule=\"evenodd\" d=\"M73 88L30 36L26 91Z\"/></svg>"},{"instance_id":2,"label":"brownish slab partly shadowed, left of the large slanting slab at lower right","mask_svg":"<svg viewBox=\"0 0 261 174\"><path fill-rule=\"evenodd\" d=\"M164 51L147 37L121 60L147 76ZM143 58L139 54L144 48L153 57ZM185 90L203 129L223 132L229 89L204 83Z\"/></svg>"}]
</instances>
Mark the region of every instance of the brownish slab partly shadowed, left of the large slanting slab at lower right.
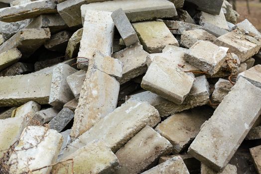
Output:
<instances>
[{"instance_id":1,"label":"brownish slab partly shadowed, left of the large slanting slab at lower right","mask_svg":"<svg viewBox=\"0 0 261 174\"><path fill-rule=\"evenodd\" d=\"M155 131L173 145L173 154L189 146L200 131L201 125L213 114L212 109L198 107L171 115L157 125Z\"/></svg>"}]
</instances>

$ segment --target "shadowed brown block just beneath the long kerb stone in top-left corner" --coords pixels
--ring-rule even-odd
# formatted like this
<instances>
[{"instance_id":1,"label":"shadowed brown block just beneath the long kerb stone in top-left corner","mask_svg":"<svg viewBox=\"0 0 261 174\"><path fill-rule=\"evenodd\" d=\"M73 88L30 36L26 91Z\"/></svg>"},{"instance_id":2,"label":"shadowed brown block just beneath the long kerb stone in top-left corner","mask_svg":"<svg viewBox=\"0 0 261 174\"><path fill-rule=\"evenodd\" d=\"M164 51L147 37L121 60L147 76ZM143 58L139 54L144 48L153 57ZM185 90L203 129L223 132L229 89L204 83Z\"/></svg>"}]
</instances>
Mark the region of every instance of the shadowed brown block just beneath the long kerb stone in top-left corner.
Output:
<instances>
[{"instance_id":1,"label":"shadowed brown block just beneath the long kerb stone in top-left corner","mask_svg":"<svg viewBox=\"0 0 261 174\"><path fill-rule=\"evenodd\" d=\"M68 26L59 14L41 14L25 28L49 28L51 33L56 33L68 28Z\"/></svg>"}]
</instances>

